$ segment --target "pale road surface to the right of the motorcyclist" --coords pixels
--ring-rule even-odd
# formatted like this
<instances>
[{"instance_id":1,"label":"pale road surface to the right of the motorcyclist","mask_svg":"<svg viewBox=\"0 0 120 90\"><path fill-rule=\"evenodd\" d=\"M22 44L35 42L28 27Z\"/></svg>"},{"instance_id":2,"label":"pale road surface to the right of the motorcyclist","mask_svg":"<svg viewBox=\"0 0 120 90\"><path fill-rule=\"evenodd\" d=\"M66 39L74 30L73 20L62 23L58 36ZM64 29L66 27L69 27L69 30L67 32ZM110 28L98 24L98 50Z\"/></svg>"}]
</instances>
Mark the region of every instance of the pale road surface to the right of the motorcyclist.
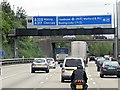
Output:
<instances>
[{"instance_id":1,"label":"pale road surface to the right of the motorcyclist","mask_svg":"<svg viewBox=\"0 0 120 90\"><path fill-rule=\"evenodd\" d=\"M100 72L94 62L89 62L87 68L89 88L118 88L118 78L116 76L106 76L100 78Z\"/></svg>"}]
</instances>

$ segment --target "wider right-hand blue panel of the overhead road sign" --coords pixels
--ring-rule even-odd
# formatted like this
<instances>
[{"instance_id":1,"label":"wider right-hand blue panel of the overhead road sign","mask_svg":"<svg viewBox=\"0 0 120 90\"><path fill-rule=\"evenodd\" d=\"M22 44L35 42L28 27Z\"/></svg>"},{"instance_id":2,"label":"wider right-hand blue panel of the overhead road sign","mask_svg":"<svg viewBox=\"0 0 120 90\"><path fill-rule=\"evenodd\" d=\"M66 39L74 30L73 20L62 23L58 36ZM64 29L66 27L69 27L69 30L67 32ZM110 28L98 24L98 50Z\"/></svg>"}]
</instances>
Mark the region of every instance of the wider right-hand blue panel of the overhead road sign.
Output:
<instances>
[{"instance_id":1,"label":"wider right-hand blue panel of the overhead road sign","mask_svg":"<svg viewBox=\"0 0 120 90\"><path fill-rule=\"evenodd\" d=\"M98 16L59 16L59 25L111 24L111 15Z\"/></svg>"}]
</instances>

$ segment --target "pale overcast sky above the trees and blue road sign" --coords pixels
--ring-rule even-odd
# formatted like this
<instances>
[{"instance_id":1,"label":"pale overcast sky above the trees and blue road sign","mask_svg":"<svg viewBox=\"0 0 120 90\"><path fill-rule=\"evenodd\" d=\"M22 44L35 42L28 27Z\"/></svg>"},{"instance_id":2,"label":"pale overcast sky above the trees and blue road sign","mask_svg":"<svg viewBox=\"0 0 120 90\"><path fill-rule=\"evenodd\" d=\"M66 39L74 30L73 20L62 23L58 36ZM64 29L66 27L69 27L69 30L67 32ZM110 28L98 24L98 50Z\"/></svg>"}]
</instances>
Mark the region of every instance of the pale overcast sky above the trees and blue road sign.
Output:
<instances>
[{"instance_id":1,"label":"pale overcast sky above the trees and blue road sign","mask_svg":"<svg viewBox=\"0 0 120 90\"><path fill-rule=\"evenodd\" d=\"M115 0L7 0L11 8L23 7L28 16L112 14ZM105 5L109 4L109 5Z\"/></svg>"}]
</instances>

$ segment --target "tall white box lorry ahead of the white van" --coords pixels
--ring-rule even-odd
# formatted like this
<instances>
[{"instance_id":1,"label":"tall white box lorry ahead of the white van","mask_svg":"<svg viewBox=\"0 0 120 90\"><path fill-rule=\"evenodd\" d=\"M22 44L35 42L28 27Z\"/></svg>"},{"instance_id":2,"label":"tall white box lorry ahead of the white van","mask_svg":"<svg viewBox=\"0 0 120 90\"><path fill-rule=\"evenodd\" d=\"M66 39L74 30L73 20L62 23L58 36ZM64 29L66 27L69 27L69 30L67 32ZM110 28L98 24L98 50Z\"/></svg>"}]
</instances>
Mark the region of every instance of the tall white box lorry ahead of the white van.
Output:
<instances>
[{"instance_id":1,"label":"tall white box lorry ahead of the white van","mask_svg":"<svg viewBox=\"0 0 120 90\"><path fill-rule=\"evenodd\" d=\"M71 42L71 56L80 57L84 60L85 65L87 64L87 52L88 46L84 41L72 41Z\"/></svg>"}]
</instances>

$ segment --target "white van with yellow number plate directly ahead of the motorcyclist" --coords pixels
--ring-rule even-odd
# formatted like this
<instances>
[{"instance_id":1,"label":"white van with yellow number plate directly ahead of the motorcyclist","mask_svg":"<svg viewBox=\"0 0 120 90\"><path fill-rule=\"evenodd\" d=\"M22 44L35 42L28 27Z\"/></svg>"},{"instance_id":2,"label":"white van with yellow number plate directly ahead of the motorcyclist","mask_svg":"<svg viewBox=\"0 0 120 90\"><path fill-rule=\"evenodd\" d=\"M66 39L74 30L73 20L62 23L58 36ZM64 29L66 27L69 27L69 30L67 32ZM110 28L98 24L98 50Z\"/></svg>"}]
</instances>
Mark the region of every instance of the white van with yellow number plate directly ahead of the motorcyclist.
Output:
<instances>
[{"instance_id":1,"label":"white van with yellow number plate directly ahead of the motorcyclist","mask_svg":"<svg viewBox=\"0 0 120 90\"><path fill-rule=\"evenodd\" d=\"M85 70L84 61L82 58L76 57L67 57L64 59L63 64L60 65L61 67L61 82L64 80L70 80L72 72L77 69L77 66L81 64Z\"/></svg>"}]
</instances>

